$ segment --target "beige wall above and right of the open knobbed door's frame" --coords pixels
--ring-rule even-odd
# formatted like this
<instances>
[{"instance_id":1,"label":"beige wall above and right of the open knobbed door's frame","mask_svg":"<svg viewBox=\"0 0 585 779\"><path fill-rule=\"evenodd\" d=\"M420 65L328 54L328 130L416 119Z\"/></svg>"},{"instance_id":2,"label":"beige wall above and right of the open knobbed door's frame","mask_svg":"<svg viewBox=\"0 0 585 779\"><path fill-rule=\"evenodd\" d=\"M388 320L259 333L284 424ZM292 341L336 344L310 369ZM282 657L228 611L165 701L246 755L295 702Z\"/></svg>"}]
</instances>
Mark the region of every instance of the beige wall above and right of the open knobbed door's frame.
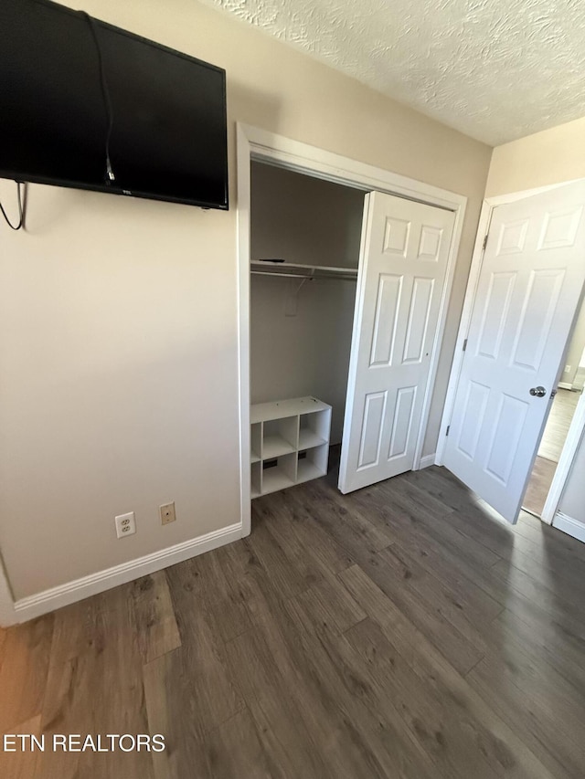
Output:
<instances>
[{"instance_id":1,"label":"beige wall above and right of the open knobbed door's frame","mask_svg":"<svg viewBox=\"0 0 585 779\"><path fill-rule=\"evenodd\" d=\"M486 194L505 195L577 178L585 178L585 117L496 147ZM585 522L584 474L585 438L581 440L558 506L559 511L582 522Z\"/></svg>"}]
</instances>

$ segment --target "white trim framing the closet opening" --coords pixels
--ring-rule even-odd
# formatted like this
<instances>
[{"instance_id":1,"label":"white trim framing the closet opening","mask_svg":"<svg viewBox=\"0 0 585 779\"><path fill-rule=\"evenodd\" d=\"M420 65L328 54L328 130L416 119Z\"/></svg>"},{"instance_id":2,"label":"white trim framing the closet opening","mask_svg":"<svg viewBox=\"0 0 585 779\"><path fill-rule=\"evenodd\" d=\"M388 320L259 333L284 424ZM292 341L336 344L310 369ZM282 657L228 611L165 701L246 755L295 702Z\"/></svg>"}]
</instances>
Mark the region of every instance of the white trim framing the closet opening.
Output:
<instances>
[{"instance_id":1,"label":"white trim framing the closet opening","mask_svg":"<svg viewBox=\"0 0 585 779\"><path fill-rule=\"evenodd\" d=\"M238 291L239 291L239 422L240 422L240 501L242 535L250 533L250 161L276 164L279 167L313 175L325 181L353 186L369 192L377 190L388 195L401 195L428 205L453 211L452 244L447 275L441 298L439 326L432 346L431 366L422 406L419 437L414 456L414 468L420 468L424 435L431 411L432 389L435 384L442 337L447 319L455 264L463 230L467 198L440 187L425 184L407 176L360 163L339 154L326 152L306 143L292 141L282 135L237 122L236 149L238 157Z\"/></svg>"}]
</instances>

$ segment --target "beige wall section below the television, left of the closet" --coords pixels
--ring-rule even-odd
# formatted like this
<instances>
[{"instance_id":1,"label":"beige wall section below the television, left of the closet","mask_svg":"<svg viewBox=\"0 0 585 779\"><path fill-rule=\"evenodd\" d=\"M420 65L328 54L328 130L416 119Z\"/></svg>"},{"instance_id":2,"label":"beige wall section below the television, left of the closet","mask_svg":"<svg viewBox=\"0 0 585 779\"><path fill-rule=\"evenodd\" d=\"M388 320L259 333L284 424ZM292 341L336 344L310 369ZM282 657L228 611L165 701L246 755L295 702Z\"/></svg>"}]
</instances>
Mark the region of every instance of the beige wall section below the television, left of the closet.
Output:
<instances>
[{"instance_id":1,"label":"beige wall section below the television, left of the closet","mask_svg":"<svg viewBox=\"0 0 585 779\"><path fill-rule=\"evenodd\" d=\"M3 231L1 542L16 597L238 521L229 221L34 186L27 232ZM117 541L126 511L138 532Z\"/></svg>"}]
</instances>

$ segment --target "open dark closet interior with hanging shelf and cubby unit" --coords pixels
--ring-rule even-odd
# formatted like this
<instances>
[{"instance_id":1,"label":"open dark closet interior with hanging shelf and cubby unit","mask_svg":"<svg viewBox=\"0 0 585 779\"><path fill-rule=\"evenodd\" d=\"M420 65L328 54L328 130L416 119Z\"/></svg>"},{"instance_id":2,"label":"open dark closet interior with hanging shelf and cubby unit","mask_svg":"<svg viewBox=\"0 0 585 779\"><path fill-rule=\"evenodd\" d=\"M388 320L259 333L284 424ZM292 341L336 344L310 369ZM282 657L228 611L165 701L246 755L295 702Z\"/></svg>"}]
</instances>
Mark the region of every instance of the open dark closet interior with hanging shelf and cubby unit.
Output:
<instances>
[{"instance_id":1,"label":"open dark closet interior with hanging shelf and cubby unit","mask_svg":"<svg viewBox=\"0 0 585 779\"><path fill-rule=\"evenodd\" d=\"M252 497L323 475L329 454L329 469L339 460L365 195L250 164ZM264 414L263 433L254 426L260 404L303 398L322 410L297 418L291 407L291 416Z\"/></svg>"}]
</instances>

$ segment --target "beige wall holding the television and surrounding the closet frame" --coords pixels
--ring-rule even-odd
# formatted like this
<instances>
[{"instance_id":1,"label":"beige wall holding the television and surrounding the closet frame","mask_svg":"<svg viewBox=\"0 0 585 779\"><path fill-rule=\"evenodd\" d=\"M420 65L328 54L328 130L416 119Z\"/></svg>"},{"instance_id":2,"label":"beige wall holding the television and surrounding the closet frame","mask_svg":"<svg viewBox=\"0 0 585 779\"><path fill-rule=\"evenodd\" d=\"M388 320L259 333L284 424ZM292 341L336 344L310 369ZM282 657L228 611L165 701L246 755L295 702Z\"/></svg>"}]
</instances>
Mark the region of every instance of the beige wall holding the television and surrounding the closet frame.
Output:
<instances>
[{"instance_id":1,"label":"beige wall holding the television and surrounding the closet frame","mask_svg":"<svg viewBox=\"0 0 585 779\"><path fill-rule=\"evenodd\" d=\"M35 185L27 233L0 226L0 550L16 598L239 521L235 121L468 196L425 453L491 155L197 0L68 2L227 68L231 210ZM138 532L117 541L125 511Z\"/></svg>"}]
</instances>

